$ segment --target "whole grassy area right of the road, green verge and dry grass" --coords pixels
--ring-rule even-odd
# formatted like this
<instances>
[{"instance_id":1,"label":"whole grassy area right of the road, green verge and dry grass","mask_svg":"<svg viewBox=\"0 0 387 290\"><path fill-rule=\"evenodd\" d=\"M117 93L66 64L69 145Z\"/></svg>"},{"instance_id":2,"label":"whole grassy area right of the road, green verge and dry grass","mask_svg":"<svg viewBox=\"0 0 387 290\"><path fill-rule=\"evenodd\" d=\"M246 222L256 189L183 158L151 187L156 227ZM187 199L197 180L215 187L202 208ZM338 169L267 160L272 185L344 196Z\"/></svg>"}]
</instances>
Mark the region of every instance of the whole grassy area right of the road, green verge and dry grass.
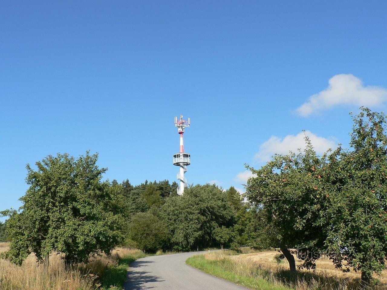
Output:
<instances>
[{"instance_id":1,"label":"whole grassy area right of the road, green verge and dry grass","mask_svg":"<svg viewBox=\"0 0 387 290\"><path fill-rule=\"evenodd\" d=\"M186 263L251 289L351 290L359 288L358 277L338 275L332 271L299 270L297 276L293 276L288 270L287 263L276 263L273 259L276 254L275 251L248 254L223 251L192 256ZM257 256L260 259L254 259ZM370 288L387 289L384 283Z\"/></svg>"}]
</instances>

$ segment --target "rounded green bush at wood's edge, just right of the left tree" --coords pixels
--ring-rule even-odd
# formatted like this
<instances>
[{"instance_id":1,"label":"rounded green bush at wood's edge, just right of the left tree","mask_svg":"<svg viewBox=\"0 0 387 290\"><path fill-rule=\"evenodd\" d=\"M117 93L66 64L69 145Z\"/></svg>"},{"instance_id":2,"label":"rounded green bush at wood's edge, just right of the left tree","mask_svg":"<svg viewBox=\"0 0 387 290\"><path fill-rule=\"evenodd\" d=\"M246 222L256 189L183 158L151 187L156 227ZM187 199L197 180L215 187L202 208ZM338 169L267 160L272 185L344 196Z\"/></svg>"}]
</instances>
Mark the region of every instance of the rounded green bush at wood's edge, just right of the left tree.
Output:
<instances>
[{"instance_id":1,"label":"rounded green bush at wood's edge, just right of the left tree","mask_svg":"<svg viewBox=\"0 0 387 290\"><path fill-rule=\"evenodd\" d=\"M151 213L137 213L129 225L129 237L144 252L154 253L163 249L168 231L163 222Z\"/></svg>"}]
</instances>

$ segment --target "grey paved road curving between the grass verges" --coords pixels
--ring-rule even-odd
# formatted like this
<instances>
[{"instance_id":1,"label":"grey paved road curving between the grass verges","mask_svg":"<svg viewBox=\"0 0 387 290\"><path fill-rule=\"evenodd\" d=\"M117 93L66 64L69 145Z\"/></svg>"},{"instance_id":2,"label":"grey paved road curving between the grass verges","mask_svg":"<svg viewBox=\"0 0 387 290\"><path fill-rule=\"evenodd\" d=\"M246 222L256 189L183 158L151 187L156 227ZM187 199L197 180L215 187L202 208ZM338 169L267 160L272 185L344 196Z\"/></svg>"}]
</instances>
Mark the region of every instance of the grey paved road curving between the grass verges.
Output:
<instances>
[{"instance_id":1,"label":"grey paved road curving between the grass verges","mask_svg":"<svg viewBox=\"0 0 387 290\"><path fill-rule=\"evenodd\" d=\"M185 264L185 260L195 254L197 252L138 259L130 265L124 289L247 290Z\"/></svg>"}]
</instances>

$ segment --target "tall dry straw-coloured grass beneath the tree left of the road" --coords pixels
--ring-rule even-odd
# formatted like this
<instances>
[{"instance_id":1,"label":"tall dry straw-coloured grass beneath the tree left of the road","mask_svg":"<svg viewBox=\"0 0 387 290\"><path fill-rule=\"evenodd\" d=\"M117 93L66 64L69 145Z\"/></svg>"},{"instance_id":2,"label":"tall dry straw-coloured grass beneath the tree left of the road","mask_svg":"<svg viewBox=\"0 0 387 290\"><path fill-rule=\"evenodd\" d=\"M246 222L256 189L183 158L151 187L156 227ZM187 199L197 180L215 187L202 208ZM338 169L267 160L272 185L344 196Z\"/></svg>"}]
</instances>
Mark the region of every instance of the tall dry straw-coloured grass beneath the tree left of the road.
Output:
<instances>
[{"instance_id":1,"label":"tall dry straw-coloured grass beneath the tree left of the road","mask_svg":"<svg viewBox=\"0 0 387 290\"><path fill-rule=\"evenodd\" d=\"M9 243L0 243L0 252L7 251ZM36 263L31 254L22 264L16 266L0 259L1 290L96 290L100 283L98 276L106 268L118 263L118 258L128 256L138 250L127 248L115 249L111 256L93 257L89 263L80 264L72 269L65 269L60 255L50 256L48 273L43 271L43 264ZM112 287L111 289L114 289Z\"/></svg>"}]
</instances>

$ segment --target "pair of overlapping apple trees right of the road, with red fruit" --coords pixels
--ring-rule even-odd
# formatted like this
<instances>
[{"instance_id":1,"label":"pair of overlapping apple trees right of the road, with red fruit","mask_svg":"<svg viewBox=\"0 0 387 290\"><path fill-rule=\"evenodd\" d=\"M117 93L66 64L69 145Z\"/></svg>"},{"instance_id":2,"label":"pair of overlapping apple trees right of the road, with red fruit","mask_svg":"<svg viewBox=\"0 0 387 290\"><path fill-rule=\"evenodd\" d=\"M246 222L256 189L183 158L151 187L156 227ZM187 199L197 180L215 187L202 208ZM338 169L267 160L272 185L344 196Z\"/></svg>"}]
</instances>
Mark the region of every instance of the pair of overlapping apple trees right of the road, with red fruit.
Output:
<instances>
[{"instance_id":1,"label":"pair of overlapping apple trees right of the road, with red fruit","mask_svg":"<svg viewBox=\"0 0 387 290\"><path fill-rule=\"evenodd\" d=\"M386 119L361 108L353 122L349 150L319 156L306 137L305 150L275 155L258 170L247 166L256 177L246 197L255 207L255 245L280 248L291 271L297 249L299 268L314 268L325 255L369 283L387 253Z\"/></svg>"}]
</instances>

